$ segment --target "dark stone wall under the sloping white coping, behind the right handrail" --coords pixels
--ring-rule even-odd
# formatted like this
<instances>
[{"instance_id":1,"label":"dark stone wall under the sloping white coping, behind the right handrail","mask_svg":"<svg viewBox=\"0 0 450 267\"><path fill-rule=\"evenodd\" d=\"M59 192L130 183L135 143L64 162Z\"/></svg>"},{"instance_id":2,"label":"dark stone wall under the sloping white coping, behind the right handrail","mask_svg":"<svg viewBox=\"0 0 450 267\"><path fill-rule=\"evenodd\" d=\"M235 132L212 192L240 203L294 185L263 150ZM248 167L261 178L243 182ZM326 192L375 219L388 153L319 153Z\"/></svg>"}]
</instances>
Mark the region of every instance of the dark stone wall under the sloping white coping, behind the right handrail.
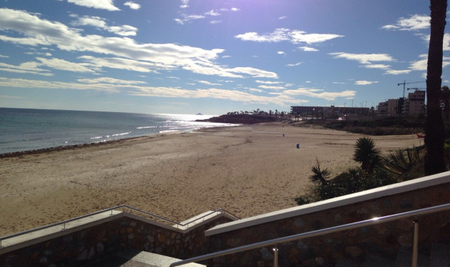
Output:
<instances>
[{"instance_id":1,"label":"dark stone wall under the sloping white coping, behind the right handrail","mask_svg":"<svg viewBox=\"0 0 450 267\"><path fill-rule=\"evenodd\" d=\"M450 203L450 183L218 233L211 236L210 252L444 203ZM335 266L336 263L363 263L367 256L394 260L399 250L411 250L412 220L402 219L280 244L277 246L279 264ZM421 253L429 253L431 243L450 244L450 211L422 216L418 220ZM215 258L208 262L208 266L272 266L272 248Z\"/></svg>"}]
</instances>

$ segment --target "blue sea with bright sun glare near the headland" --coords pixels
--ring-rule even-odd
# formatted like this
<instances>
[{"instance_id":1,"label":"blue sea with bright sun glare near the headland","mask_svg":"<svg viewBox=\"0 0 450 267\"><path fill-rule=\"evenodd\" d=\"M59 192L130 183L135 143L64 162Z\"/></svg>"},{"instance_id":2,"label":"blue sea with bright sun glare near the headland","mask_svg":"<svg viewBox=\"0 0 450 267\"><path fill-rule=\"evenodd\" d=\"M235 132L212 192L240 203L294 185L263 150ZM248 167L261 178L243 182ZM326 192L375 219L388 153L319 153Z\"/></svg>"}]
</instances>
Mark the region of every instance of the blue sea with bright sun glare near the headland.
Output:
<instances>
[{"instance_id":1,"label":"blue sea with bright sun glare near the headland","mask_svg":"<svg viewBox=\"0 0 450 267\"><path fill-rule=\"evenodd\" d=\"M211 115L0 108L0 154L234 126L196 121L209 118Z\"/></svg>"}]
</instances>

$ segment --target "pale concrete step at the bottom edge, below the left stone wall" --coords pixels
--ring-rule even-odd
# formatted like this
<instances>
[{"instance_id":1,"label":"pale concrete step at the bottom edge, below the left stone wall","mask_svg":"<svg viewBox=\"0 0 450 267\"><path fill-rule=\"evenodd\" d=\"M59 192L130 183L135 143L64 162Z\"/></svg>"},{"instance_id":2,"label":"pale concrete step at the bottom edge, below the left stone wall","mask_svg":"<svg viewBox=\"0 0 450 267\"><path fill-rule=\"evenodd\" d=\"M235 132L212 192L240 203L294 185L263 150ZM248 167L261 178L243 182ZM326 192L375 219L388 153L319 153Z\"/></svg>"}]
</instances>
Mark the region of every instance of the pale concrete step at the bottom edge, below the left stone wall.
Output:
<instances>
[{"instance_id":1,"label":"pale concrete step at the bottom edge, below the left stone wall","mask_svg":"<svg viewBox=\"0 0 450 267\"><path fill-rule=\"evenodd\" d=\"M129 249L116 253L116 255L105 258L97 263L89 264L89 267L169 267L171 263L176 261L180 260L146 251ZM205 267L197 263L188 263L184 266Z\"/></svg>"}]
</instances>

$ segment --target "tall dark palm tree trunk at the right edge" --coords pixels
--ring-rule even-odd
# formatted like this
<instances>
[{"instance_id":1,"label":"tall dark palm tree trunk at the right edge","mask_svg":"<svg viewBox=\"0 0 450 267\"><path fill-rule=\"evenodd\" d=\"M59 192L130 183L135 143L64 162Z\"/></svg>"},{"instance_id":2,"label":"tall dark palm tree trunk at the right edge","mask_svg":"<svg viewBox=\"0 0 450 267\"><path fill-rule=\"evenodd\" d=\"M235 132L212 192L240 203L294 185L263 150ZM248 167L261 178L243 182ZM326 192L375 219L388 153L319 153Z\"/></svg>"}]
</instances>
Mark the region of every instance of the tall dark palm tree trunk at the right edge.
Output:
<instances>
[{"instance_id":1,"label":"tall dark palm tree trunk at the right edge","mask_svg":"<svg viewBox=\"0 0 450 267\"><path fill-rule=\"evenodd\" d=\"M444 162L444 122L439 94L442 75L442 44L444 40L447 0L430 0L431 35L426 69L425 174L446 171Z\"/></svg>"}]
</instances>

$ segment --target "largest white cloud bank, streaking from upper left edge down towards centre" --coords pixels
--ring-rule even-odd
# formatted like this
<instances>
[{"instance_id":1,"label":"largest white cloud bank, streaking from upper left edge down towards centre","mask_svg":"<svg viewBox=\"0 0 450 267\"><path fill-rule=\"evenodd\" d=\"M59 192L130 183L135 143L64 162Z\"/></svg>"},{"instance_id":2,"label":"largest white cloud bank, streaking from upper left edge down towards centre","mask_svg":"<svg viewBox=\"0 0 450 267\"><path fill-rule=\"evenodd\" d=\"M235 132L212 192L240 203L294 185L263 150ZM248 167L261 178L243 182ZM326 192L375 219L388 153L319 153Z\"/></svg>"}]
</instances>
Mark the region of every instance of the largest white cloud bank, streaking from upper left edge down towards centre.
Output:
<instances>
[{"instance_id":1,"label":"largest white cloud bank, streaking from upper left edge down towards centre","mask_svg":"<svg viewBox=\"0 0 450 267\"><path fill-rule=\"evenodd\" d=\"M0 24L4 32L15 32L16 36L0 35L0 40L29 46L52 46L63 51L90 52L108 59L86 56L96 66L119 68L119 61L128 64L122 69L146 68L145 72L161 69L186 69L196 74L243 78L241 74L254 77L277 78L277 74L250 67L226 68L214 63L224 49L201 49L178 44L138 44L128 37L104 37L82 35L79 29L70 28L59 22L40 19L35 14L11 9L0 9ZM112 65L108 65L111 62ZM115 63L114 63L115 62ZM137 68L131 62L139 63ZM89 65L86 65L86 67ZM91 66L89 66L91 68ZM91 68L92 69L92 68Z\"/></svg>"}]
</instances>

